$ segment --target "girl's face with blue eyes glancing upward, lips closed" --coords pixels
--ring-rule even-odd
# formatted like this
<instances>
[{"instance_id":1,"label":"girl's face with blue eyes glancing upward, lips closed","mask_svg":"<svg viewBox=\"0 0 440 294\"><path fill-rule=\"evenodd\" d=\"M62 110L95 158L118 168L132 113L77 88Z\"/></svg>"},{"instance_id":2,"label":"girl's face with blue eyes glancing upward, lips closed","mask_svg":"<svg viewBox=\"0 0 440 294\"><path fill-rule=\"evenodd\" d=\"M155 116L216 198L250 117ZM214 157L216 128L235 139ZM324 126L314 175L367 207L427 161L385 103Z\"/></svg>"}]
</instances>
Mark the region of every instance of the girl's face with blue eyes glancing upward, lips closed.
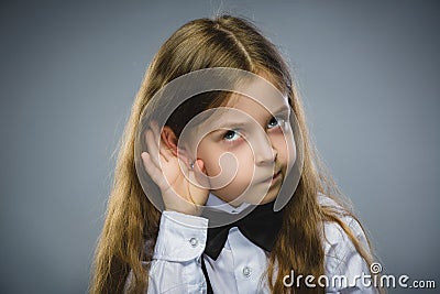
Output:
<instances>
[{"instance_id":1,"label":"girl's face with blue eyes glancing upward, lips closed","mask_svg":"<svg viewBox=\"0 0 440 294\"><path fill-rule=\"evenodd\" d=\"M211 193L234 206L274 200L296 157L287 98L257 100L234 94L191 135Z\"/></svg>"}]
</instances>

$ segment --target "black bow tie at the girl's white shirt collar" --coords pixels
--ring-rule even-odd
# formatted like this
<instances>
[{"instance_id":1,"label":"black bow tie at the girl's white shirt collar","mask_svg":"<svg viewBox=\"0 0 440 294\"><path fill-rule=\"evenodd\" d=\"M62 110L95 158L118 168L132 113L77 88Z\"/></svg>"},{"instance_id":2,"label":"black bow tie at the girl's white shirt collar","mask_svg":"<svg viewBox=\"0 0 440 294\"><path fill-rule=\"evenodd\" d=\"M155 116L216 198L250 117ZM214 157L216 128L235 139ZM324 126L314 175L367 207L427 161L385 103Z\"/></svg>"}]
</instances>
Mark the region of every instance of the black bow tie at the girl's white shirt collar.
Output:
<instances>
[{"instance_id":1,"label":"black bow tie at the girl's white shirt collar","mask_svg":"<svg viewBox=\"0 0 440 294\"><path fill-rule=\"evenodd\" d=\"M232 224L209 228L205 253L217 260L228 239L229 230L233 227L238 227L241 233L254 244L266 251L272 251L283 221L283 209L275 213L273 207L274 202L258 205L250 214ZM210 210L209 214L227 213Z\"/></svg>"}]
</instances>

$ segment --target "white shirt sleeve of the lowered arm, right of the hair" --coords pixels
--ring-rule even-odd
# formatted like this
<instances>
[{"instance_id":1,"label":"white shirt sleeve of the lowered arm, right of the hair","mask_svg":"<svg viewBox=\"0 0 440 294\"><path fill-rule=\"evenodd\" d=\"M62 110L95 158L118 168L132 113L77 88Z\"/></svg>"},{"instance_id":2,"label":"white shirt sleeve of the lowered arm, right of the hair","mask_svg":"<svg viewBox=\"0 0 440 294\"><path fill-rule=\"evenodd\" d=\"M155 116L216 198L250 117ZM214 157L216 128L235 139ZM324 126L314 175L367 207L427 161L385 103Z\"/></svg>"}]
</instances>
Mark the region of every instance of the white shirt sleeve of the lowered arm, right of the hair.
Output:
<instances>
[{"instance_id":1,"label":"white shirt sleeve of the lowered arm, right of the hair","mask_svg":"<svg viewBox=\"0 0 440 294\"><path fill-rule=\"evenodd\" d=\"M369 249L362 227L352 218L343 219L361 244ZM375 294L373 279L365 260L355 249L345 231L336 222L328 222L326 232L326 276L327 293Z\"/></svg>"}]
</instances>

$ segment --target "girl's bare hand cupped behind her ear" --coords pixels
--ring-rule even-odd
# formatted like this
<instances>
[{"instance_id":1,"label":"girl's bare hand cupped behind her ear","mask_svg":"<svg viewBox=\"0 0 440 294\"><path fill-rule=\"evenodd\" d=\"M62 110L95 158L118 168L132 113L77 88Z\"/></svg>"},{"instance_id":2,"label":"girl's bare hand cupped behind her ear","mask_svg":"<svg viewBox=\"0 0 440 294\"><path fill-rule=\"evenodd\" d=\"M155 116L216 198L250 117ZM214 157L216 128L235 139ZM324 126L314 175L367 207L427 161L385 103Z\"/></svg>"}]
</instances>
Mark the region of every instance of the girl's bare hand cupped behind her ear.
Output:
<instances>
[{"instance_id":1,"label":"girl's bare hand cupped behind her ear","mask_svg":"<svg viewBox=\"0 0 440 294\"><path fill-rule=\"evenodd\" d=\"M204 161L197 160L194 168L188 165L188 159L180 159L186 162L180 166L182 153L177 156L166 146L160 143L161 133L156 122L150 123L151 128L145 131L147 152L141 156L145 171L161 189L165 204L165 210L174 210L187 215L199 216L201 206L208 199L209 189L194 185L197 182L196 173L204 171Z\"/></svg>"}]
</instances>

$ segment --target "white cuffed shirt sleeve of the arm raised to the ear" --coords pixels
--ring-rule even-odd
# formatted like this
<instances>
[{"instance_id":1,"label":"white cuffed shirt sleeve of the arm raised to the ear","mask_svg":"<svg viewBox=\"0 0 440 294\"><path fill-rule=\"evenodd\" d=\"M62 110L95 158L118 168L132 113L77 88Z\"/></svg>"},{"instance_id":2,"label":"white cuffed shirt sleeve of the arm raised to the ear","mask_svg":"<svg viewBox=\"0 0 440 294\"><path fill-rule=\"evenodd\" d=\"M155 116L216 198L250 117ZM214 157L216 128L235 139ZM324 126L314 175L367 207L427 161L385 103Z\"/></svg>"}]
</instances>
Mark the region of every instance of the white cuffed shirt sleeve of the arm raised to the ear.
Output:
<instances>
[{"instance_id":1,"label":"white cuffed shirt sleeve of the arm raised to the ear","mask_svg":"<svg viewBox=\"0 0 440 294\"><path fill-rule=\"evenodd\" d=\"M200 257L208 219L163 211L148 272L148 294L206 293Z\"/></svg>"}]
</instances>

